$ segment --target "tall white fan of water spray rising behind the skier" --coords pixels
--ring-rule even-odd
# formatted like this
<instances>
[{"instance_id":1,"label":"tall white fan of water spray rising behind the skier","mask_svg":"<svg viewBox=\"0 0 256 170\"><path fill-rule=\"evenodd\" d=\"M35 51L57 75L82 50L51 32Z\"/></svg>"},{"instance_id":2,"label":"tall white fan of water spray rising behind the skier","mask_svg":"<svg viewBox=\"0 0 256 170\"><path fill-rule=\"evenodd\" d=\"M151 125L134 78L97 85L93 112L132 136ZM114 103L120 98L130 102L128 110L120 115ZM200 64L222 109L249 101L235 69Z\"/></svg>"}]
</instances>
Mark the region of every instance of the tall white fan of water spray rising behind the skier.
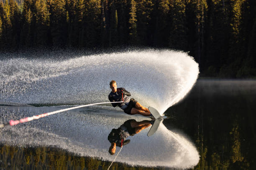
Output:
<instances>
[{"instance_id":1,"label":"tall white fan of water spray rising behind the skier","mask_svg":"<svg viewBox=\"0 0 256 170\"><path fill-rule=\"evenodd\" d=\"M140 50L51 60L0 60L0 101L27 104L108 102L110 80L163 113L193 87L198 64L187 53ZM44 59L43 59L44 58Z\"/></svg>"}]
</instances>

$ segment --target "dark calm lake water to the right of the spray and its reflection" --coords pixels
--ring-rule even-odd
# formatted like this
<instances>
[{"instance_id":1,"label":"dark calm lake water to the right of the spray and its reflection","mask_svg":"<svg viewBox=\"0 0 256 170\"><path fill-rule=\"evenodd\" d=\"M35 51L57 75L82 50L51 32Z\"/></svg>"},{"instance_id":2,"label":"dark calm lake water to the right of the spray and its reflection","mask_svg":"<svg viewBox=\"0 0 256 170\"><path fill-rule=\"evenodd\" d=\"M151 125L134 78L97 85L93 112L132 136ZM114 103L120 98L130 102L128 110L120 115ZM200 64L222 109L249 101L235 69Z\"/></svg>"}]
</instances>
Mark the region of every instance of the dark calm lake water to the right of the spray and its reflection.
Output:
<instances>
[{"instance_id":1,"label":"dark calm lake water to the right of the spray and its reflection","mask_svg":"<svg viewBox=\"0 0 256 170\"><path fill-rule=\"evenodd\" d=\"M169 108L169 128L192 138L200 153L194 169L255 170L256 81L199 80Z\"/></svg>"}]
</instances>

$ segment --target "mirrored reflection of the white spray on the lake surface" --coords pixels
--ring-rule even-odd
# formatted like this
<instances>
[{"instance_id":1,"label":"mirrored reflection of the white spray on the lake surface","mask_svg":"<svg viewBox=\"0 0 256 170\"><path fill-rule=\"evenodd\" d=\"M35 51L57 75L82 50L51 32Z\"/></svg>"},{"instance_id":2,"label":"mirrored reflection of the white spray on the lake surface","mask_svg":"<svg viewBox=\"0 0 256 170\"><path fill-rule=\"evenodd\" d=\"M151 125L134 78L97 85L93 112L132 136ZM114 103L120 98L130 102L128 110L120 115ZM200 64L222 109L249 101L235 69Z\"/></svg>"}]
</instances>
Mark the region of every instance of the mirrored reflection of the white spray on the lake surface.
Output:
<instances>
[{"instance_id":1,"label":"mirrored reflection of the white spray on the lake surface","mask_svg":"<svg viewBox=\"0 0 256 170\"><path fill-rule=\"evenodd\" d=\"M0 107L3 121L10 118L41 114L64 107ZM0 143L15 146L54 146L79 156L90 156L112 161L108 153L108 134L126 120L142 121L148 118L130 116L105 107L87 107L58 113L13 127L0 129ZM116 162L140 166L191 168L197 165L199 154L195 146L182 134L174 133L161 123L151 137L148 130L128 137L131 142L123 146ZM120 148L117 149L117 152ZM117 153L116 152L116 153Z\"/></svg>"}]
</instances>

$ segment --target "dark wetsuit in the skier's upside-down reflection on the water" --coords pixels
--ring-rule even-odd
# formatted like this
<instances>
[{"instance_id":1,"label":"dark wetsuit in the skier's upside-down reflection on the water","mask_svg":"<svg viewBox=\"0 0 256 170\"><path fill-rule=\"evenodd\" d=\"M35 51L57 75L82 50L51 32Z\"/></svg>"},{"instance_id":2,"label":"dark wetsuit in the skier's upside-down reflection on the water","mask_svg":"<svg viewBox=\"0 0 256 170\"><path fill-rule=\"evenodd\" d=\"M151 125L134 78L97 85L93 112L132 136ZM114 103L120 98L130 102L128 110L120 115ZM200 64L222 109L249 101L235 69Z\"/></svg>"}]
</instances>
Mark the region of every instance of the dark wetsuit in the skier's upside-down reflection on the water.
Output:
<instances>
[{"instance_id":1,"label":"dark wetsuit in the skier's upside-down reflection on the water","mask_svg":"<svg viewBox=\"0 0 256 170\"><path fill-rule=\"evenodd\" d=\"M131 140L126 140L128 136L135 135L135 128L131 127L131 122L136 121L134 119L127 120L118 129L112 129L108 135L110 143L116 143L116 146L121 147L127 145Z\"/></svg>"}]
</instances>

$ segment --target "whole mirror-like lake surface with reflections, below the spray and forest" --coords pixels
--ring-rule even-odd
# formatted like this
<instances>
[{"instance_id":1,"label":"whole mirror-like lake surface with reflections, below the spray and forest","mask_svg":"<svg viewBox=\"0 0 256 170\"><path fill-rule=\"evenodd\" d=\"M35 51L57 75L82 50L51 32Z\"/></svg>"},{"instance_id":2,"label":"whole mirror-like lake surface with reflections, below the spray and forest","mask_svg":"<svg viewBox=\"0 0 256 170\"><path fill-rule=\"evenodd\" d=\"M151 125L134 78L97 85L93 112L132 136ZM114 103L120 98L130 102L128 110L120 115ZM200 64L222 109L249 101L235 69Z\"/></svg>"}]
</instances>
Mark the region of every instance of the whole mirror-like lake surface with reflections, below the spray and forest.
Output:
<instances>
[{"instance_id":1,"label":"whole mirror-like lake surface with reflections, below the spray and forest","mask_svg":"<svg viewBox=\"0 0 256 170\"><path fill-rule=\"evenodd\" d=\"M255 101L256 81L198 80L154 135L128 137L110 169L254 170ZM66 107L0 106L0 122ZM108 134L131 119L150 121L95 106L2 128L0 169L108 169Z\"/></svg>"}]
</instances>

